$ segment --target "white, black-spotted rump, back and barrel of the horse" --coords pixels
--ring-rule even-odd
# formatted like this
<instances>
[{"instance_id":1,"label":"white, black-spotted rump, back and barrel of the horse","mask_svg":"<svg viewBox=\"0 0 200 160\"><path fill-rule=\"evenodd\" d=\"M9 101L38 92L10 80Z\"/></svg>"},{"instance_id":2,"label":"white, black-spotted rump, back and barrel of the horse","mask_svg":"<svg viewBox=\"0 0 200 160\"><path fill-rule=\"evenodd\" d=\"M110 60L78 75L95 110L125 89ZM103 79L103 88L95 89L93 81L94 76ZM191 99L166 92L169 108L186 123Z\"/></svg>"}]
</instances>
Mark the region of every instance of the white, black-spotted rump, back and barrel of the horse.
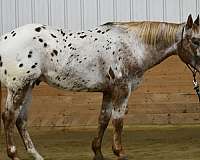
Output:
<instances>
[{"instance_id":1,"label":"white, black-spotted rump, back and barrel of the horse","mask_svg":"<svg viewBox=\"0 0 200 160\"><path fill-rule=\"evenodd\" d=\"M73 91L103 91L113 78L130 75L137 81L134 67L141 67L143 54L133 54L127 35L110 25L84 32L20 27L0 39L0 80L13 89L40 79Z\"/></svg>"}]
</instances>

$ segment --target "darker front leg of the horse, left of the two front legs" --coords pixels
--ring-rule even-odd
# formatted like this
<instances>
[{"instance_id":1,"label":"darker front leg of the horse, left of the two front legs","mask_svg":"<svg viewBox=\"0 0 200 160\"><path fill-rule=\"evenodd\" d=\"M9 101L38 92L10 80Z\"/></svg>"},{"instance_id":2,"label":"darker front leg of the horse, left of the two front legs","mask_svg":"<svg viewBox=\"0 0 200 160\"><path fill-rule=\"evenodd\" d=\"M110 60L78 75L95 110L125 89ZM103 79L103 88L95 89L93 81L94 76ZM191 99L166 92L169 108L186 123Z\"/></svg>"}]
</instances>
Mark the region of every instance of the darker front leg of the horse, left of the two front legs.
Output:
<instances>
[{"instance_id":1,"label":"darker front leg of the horse, left of the two front legs","mask_svg":"<svg viewBox=\"0 0 200 160\"><path fill-rule=\"evenodd\" d=\"M98 134L92 141L92 149L95 154L94 160L103 160L104 159L102 152L101 152L101 144L102 144L104 132L110 121L111 112L112 112L111 93L104 92L101 112L99 115Z\"/></svg>"}]
</instances>

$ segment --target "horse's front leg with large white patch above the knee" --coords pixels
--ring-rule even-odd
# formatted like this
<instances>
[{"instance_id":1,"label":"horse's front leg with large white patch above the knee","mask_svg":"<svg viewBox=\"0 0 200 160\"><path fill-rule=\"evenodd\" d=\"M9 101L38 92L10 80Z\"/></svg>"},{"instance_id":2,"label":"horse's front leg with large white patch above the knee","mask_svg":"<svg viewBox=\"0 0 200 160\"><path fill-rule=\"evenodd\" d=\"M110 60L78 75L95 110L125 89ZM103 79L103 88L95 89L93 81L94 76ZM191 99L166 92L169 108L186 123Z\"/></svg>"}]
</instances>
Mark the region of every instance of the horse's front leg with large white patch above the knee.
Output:
<instances>
[{"instance_id":1,"label":"horse's front leg with large white patch above the knee","mask_svg":"<svg viewBox=\"0 0 200 160\"><path fill-rule=\"evenodd\" d=\"M113 124L113 145L112 149L118 160L127 160L122 146L123 117L128 112L128 98L131 93L130 85L117 85L112 97L112 124Z\"/></svg>"}]
</instances>

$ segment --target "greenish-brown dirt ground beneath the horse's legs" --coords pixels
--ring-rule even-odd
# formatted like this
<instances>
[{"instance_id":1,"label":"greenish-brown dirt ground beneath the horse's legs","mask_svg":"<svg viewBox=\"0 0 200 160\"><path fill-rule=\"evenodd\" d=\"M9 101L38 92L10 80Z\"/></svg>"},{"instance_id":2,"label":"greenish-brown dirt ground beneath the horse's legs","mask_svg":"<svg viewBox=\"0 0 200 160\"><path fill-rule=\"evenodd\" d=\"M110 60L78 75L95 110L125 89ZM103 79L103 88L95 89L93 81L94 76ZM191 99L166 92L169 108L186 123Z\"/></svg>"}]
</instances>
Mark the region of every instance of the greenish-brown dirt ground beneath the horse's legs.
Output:
<instances>
[{"instance_id":1,"label":"greenish-brown dirt ground beneath the horse's legs","mask_svg":"<svg viewBox=\"0 0 200 160\"><path fill-rule=\"evenodd\" d=\"M31 128L36 147L45 160L92 160L91 140L95 129ZM112 130L103 142L107 160L116 159L111 151ZM0 143L1 160L5 143ZM23 160L31 160L16 136L18 152ZM130 160L199 160L200 126L132 126L124 129L123 141Z\"/></svg>"}]
</instances>

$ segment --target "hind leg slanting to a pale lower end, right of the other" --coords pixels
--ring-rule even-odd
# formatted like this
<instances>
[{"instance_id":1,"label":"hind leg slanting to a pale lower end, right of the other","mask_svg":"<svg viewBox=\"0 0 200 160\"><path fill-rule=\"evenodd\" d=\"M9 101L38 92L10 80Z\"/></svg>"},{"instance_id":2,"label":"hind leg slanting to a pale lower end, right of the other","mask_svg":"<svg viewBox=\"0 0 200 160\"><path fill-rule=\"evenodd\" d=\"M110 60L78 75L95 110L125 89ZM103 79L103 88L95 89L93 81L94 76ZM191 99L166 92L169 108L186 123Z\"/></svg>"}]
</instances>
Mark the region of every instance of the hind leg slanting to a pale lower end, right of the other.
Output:
<instances>
[{"instance_id":1,"label":"hind leg slanting to a pale lower end, right of the other","mask_svg":"<svg viewBox=\"0 0 200 160\"><path fill-rule=\"evenodd\" d=\"M16 126L19 131L20 136L22 137L23 143L26 147L26 150L36 159L36 160L43 160L43 158L40 156L40 154L37 152L37 150L34 147L34 144L30 138L30 135L27 131L27 111L28 107L30 105L32 98L32 86L29 87L24 101L22 105L20 106L19 115L17 117Z\"/></svg>"}]
</instances>

